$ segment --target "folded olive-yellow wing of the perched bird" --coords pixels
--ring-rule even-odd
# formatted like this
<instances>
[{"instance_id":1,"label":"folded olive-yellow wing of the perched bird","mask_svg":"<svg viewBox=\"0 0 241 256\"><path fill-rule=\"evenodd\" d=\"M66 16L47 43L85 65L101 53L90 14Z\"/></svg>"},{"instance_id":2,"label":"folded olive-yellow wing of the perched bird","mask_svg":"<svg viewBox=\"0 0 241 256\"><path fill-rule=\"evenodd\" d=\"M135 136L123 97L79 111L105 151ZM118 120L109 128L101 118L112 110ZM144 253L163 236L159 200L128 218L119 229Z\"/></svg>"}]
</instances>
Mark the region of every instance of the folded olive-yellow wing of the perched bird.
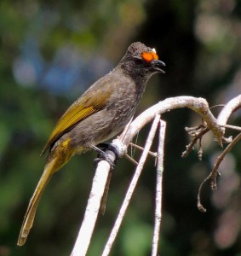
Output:
<instances>
[{"instance_id":1,"label":"folded olive-yellow wing of the perched bird","mask_svg":"<svg viewBox=\"0 0 241 256\"><path fill-rule=\"evenodd\" d=\"M77 101L66 110L66 113L59 119L54 131L52 131L41 155L46 152L52 143L55 143L64 133L66 133L66 131L69 131L72 126L106 106L106 102L112 93L110 90L111 86L106 86L107 84L108 82L106 81L105 84L101 83L101 87L90 87L83 96L78 98Z\"/></svg>"}]
</instances>

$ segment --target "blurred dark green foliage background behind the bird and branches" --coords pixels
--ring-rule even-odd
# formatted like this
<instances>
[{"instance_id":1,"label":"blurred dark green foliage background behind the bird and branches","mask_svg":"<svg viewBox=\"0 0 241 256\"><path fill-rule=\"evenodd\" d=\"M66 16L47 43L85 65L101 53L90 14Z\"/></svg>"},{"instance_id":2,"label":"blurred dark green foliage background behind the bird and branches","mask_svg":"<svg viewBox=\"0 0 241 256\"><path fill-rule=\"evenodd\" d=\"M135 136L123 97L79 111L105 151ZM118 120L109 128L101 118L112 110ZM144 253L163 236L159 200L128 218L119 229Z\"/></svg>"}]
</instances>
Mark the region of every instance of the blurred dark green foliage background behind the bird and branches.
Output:
<instances>
[{"instance_id":1,"label":"blurred dark green foliage background behind the bird and branches","mask_svg":"<svg viewBox=\"0 0 241 256\"><path fill-rule=\"evenodd\" d=\"M0 256L72 251L94 176L95 153L75 156L55 174L26 245L17 247L28 201L43 171L39 154L65 109L135 41L155 47L166 63L166 73L150 81L138 113L169 96L202 96L213 106L240 94L239 0L1 1ZM70 75L65 77L65 72ZM219 111L214 109L215 114ZM240 146L221 166L218 191L205 187L208 212L203 214L196 207L198 185L221 148L208 135L202 162L197 150L181 159L189 142L184 127L201 120L187 109L163 118L168 134L159 254L241 255ZM240 126L240 111L231 123ZM141 131L139 144L145 143L146 131ZM148 160L112 255L150 255L153 165ZM133 170L126 160L118 161L89 255L100 255Z\"/></svg>"}]
</instances>

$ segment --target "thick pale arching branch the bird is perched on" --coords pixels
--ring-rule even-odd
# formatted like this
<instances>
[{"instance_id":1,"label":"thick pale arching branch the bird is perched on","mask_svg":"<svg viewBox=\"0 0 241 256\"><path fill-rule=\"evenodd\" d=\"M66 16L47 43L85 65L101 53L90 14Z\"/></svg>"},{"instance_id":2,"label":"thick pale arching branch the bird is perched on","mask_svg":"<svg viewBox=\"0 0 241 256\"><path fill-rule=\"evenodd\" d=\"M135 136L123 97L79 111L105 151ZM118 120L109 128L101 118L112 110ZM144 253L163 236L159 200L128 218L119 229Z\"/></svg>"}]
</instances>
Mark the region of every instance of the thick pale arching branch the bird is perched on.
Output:
<instances>
[{"instance_id":1,"label":"thick pale arching branch the bird is perched on","mask_svg":"<svg viewBox=\"0 0 241 256\"><path fill-rule=\"evenodd\" d=\"M130 141L133 139L133 137L135 137L135 135L139 131L141 131L141 129L147 123L152 121L152 119L154 119L158 114L169 112L170 110L173 110L175 108L191 108L193 111L198 113L204 120L204 124L203 124L204 130L209 129L210 131L212 131L215 139L221 145L222 145L222 142L225 141L223 137L225 129L223 128L223 126L219 124L218 120L215 119L214 115L211 113L211 111L209 110L209 104L208 102L206 102L205 99L196 98L192 96L178 96L178 97L165 99L162 102L158 102L157 104L153 105L151 108L146 109L146 111L141 113L131 123L129 123L129 125L127 125L122 135L118 137L118 139L115 139L112 141L112 146L117 149L119 157L122 157L123 155L126 154ZM146 154L148 154L148 151L149 149L147 150ZM115 160L116 156L115 154L112 153L112 151L106 151L106 154L109 156L110 159L112 159L113 161ZM99 192L93 193L92 191L90 193L88 207L86 208L83 224L82 224L82 227L80 228L80 233L81 233L81 230L84 230L84 232L83 232L83 235L77 237L77 241L72 251L72 256L85 255L89 247L89 241L91 239L91 236L95 227L95 222L96 222L96 218L98 216L99 207L100 207L100 201L103 195L101 193L104 193L105 186L106 186L106 180L104 180L103 175L107 178L108 176L107 173L110 172L110 165L107 162L105 165L103 165L101 162L102 161L100 161L100 163L98 164L96 174L95 174L95 179L97 180L99 178L103 179L103 182L101 183L101 189L99 186L100 193ZM106 173L106 174L103 174L103 173ZM94 184L93 184L93 187L94 187ZM95 202L95 203L93 202L93 204L95 204L95 207L92 207L92 202L90 201ZM88 218L87 215L90 215L91 217ZM85 222L87 222L87 219L91 223L86 224ZM91 231L89 230L85 231L85 229L87 229L88 227L89 227L89 230ZM85 244L84 246L83 246L83 243Z\"/></svg>"}]
</instances>

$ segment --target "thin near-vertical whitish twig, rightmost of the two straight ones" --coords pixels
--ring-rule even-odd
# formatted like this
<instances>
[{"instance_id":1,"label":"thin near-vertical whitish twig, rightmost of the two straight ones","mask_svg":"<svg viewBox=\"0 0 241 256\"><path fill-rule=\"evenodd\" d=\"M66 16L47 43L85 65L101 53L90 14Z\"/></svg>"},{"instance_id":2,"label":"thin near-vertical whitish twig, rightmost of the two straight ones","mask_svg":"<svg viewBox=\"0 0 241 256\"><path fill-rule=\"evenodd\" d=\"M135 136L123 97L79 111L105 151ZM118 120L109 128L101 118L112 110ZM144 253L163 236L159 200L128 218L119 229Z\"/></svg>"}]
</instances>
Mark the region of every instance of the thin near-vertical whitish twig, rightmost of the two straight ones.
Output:
<instances>
[{"instance_id":1,"label":"thin near-vertical whitish twig, rightmost of the two straight ones","mask_svg":"<svg viewBox=\"0 0 241 256\"><path fill-rule=\"evenodd\" d=\"M152 256L158 255L158 240L162 221L162 195L163 195L163 172L164 172L164 139L166 122L160 120L159 142L158 142L158 165L157 165L157 186L156 186L156 209L155 224L152 238Z\"/></svg>"}]
</instances>

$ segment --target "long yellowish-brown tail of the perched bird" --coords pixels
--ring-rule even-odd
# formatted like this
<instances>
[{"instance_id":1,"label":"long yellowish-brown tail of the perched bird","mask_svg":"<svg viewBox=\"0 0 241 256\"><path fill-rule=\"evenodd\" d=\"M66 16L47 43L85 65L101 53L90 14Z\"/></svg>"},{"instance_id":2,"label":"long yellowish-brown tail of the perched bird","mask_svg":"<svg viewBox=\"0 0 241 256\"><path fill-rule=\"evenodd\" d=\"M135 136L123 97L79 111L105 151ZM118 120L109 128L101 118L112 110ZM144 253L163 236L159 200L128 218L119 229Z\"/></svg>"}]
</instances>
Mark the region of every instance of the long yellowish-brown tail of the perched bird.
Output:
<instances>
[{"instance_id":1,"label":"long yellowish-brown tail of the perched bird","mask_svg":"<svg viewBox=\"0 0 241 256\"><path fill-rule=\"evenodd\" d=\"M37 188L35 189L26 210L26 215L25 215L23 224L21 226L20 236L17 243L18 246L22 246L25 244L29 231L32 228L37 206L41 198L41 195L43 194L43 190L45 189L46 185L49 183L50 177L52 177L52 175L56 171L58 171L61 166L63 166L63 161L60 161L58 157L55 157L54 159L49 160L49 162L44 167L43 175L40 178L39 182L37 183Z\"/></svg>"}]
</instances>

